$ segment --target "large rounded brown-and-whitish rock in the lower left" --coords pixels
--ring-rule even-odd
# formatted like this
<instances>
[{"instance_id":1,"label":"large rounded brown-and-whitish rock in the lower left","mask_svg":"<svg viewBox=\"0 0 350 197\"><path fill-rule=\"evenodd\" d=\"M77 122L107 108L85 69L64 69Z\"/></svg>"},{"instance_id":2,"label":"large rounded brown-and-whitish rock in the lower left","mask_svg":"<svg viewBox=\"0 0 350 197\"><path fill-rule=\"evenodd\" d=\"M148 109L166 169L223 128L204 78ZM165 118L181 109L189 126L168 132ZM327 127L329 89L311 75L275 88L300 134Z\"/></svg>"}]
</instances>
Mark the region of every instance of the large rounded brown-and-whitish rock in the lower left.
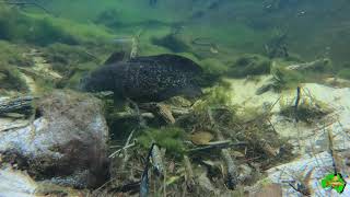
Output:
<instances>
[{"instance_id":1,"label":"large rounded brown-and-whitish rock in the lower left","mask_svg":"<svg viewBox=\"0 0 350 197\"><path fill-rule=\"evenodd\" d=\"M35 120L0 131L3 162L27 170L36 179L96 187L108 172L108 129L98 100L55 91L37 102Z\"/></svg>"}]
</instances>

